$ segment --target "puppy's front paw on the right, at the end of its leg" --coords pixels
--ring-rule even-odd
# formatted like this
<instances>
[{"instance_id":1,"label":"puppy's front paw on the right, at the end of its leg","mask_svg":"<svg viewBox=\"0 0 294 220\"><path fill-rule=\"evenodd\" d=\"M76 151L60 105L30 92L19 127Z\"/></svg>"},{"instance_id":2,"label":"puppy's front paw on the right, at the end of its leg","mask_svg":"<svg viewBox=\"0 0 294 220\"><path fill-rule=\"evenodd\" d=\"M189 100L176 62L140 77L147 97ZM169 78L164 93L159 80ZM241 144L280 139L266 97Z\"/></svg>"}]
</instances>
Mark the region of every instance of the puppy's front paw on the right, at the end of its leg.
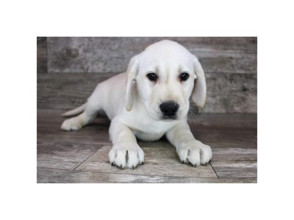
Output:
<instances>
[{"instance_id":1,"label":"puppy's front paw on the right, at the end of its leg","mask_svg":"<svg viewBox=\"0 0 294 220\"><path fill-rule=\"evenodd\" d=\"M197 140L180 144L177 154L182 163L189 162L195 167L206 165L212 157L211 148Z\"/></svg>"}]
</instances>

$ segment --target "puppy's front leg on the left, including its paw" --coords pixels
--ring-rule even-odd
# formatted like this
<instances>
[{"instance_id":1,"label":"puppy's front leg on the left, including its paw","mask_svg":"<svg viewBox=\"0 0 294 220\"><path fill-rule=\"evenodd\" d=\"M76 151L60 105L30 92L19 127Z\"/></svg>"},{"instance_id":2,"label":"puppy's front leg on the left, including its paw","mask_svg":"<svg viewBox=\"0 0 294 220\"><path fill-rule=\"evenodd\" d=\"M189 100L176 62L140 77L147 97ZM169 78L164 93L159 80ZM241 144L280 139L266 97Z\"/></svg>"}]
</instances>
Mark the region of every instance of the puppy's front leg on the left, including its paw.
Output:
<instances>
[{"instance_id":1,"label":"puppy's front leg on the left, including its paw","mask_svg":"<svg viewBox=\"0 0 294 220\"><path fill-rule=\"evenodd\" d=\"M137 144L134 133L124 124L111 121L109 128L113 147L109 152L111 165L121 168L135 168L144 162L144 152Z\"/></svg>"}]
</instances>

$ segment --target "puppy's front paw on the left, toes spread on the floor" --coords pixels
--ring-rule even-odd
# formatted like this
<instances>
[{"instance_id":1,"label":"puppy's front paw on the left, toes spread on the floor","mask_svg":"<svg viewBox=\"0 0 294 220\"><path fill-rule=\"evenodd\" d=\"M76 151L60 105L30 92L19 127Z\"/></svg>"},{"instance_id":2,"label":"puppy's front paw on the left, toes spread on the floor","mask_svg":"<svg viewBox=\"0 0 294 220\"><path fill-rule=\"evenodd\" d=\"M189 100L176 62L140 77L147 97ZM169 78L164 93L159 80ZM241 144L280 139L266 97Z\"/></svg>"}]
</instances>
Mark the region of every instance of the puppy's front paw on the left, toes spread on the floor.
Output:
<instances>
[{"instance_id":1,"label":"puppy's front paw on the left, toes spread on the floor","mask_svg":"<svg viewBox=\"0 0 294 220\"><path fill-rule=\"evenodd\" d=\"M137 143L120 143L110 150L111 165L121 168L135 168L144 162L144 152Z\"/></svg>"}]
</instances>

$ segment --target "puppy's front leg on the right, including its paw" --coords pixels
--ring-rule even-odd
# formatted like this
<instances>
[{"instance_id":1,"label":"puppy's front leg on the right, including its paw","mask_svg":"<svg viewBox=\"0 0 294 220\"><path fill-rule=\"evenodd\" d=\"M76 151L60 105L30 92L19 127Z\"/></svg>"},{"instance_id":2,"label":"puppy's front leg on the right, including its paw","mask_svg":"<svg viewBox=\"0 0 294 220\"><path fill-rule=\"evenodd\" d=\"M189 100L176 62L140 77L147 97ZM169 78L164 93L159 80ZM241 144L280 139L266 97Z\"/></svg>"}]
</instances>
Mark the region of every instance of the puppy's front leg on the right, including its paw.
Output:
<instances>
[{"instance_id":1,"label":"puppy's front leg on the right, including its paw","mask_svg":"<svg viewBox=\"0 0 294 220\"><path fill-rule=\"evenodd\" d=\"M200 166L211 160L211 148L194 138L187 122L175 126L166 136L175 146L182 163L190 162L193 166Z\"/></svg>"}]
</instances>

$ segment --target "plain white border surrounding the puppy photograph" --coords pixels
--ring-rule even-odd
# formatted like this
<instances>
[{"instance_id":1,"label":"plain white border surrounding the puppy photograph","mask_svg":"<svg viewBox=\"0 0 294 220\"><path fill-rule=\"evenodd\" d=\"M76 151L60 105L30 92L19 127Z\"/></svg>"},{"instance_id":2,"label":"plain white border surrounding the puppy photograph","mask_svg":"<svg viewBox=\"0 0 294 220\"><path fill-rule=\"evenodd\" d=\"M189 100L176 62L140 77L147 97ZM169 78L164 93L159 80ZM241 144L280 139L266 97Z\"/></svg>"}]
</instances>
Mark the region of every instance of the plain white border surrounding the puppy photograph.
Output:
<instances>
[{"instance_id":1,"label":"plain white border surrounding the puppy photograph","mask_svg":"<svg viewBox=\"0 0 294 220\"><path fill-rule=\"evenodd\" d=\"M292 9L284 0L1 3L2 219L293 217ZM258 184L36 184L36 36L258 36Z\"/></svg>"}]
</instances>

